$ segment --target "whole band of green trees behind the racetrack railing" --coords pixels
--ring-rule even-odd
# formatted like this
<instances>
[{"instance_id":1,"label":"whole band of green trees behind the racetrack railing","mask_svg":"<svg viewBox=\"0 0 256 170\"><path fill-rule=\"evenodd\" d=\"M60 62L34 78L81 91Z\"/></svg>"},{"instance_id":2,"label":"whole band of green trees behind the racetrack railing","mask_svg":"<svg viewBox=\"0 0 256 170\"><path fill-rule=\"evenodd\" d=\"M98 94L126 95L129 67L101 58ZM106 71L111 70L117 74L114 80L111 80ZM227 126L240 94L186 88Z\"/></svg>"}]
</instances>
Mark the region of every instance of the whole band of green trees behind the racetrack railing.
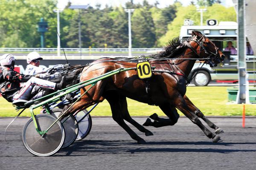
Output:
<instances>
[{"instance_id":1,"label":"whole band of green trees behind the racetrack railing","mask_svg":"<svg viewBox=\"0 0 256 170\"><path fill-rule=\"evenodd\" d=\"M233 7L225 8L220 0L198 0L200 6L207 6L204 22L215 18L218 21L236 21ZM0 47L40 47L40 33L37 23L43 17L48 22L45 33L46 47L57 46L56 8L57 0L1 0L0 8ZM132 13L132 47L154 48L166 45L168 40L179 36L184 19L191 19L195 25L200 23L200 13L193 3L182 6L177 0L165 8L158 8L158 2L151 5L147 0L125 4L134 8ZM70 3L60 12L61 46L79 47L79 10L69 9ZM12 7L12 8L10 8ZM127 48L128 14L122 6L105 6L80 10L82 48ZM221 15L220 15L221 14Z\"/></svg>"}]
</instances>

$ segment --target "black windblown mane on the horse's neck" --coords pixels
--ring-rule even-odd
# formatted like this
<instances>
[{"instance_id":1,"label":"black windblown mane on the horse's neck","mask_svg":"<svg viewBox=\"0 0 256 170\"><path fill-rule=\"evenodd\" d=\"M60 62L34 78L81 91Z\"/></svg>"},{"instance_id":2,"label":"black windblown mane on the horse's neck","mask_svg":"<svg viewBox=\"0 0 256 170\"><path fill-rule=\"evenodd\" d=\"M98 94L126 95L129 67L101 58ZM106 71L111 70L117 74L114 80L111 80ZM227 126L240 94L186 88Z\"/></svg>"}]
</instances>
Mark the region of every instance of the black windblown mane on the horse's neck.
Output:
<instances>
[{"instance_id":1,"label":"black windblown mane on the horse's neck","mask_svg":"<svg viewBox=\"0 0 256 170\"><path fill-rule=\"evenodd\" d=\"M169 44L163 48L163 51L154 54L154 59L162 59L162 58L174 58L177 54L180 54L181 51L184 50L184 46L182 46L182 42L187 39L181 39L180 37L176 37L169 41ZM181 46L180 46L181 45ZM177 48L180 46L180 48Z\"/></svg>"}]
</instances>

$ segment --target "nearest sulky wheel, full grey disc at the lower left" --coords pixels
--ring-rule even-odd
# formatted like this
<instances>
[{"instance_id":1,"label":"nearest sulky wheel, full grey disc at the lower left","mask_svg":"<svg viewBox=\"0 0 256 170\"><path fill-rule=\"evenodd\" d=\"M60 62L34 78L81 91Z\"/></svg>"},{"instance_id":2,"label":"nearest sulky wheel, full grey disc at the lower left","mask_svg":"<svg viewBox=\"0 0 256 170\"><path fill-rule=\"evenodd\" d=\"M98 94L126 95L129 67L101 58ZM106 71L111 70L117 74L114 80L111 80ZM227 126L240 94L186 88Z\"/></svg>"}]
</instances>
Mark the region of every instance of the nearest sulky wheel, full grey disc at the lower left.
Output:
<instances>
[{"instance_id":1,"label":"nearest sulky wheel, full grey disc at the lower left","mask_svg":"<svg viewBox=\"0 0 256 170\"><path fill-rule=\"evenodd\" d=\"M47 114L35 116L38 129L47 130L56 118ZM36 156L51 156L58 152L64 143L65 131L61 122L57 121L42 137L35 129L33 119L30 118L23 127L22 141L26 149Z\"/></svg>"}]
</instances>

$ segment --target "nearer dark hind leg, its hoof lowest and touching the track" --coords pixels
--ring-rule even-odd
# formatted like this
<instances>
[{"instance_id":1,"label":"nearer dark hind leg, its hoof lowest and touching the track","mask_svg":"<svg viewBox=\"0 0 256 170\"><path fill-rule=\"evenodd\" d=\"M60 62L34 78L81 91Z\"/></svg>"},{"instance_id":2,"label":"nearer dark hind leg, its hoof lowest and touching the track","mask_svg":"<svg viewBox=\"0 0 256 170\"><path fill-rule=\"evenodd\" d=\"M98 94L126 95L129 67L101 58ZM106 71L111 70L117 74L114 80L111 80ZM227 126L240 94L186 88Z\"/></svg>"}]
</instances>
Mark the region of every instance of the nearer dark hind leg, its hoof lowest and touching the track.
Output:
<instances>
[{"instance_id":1,"label":"nearer dark hind leg, its hoof lowest and touching the track","mask_svg":"<svg viewBox=\"0 0 256 170\"><path fill-rule=\"evenodd\" d=\"M114 121L116 121L118 125L120 125L131 136L132 139L137 140L138 144L145 144L145 140L140 138L140 136L131 130L131 128L125 123L122 117L119 94L117 94L116 91L109 91L107 94L104 94L104 97L110 104Z\"/></svg>"}]
</instances>

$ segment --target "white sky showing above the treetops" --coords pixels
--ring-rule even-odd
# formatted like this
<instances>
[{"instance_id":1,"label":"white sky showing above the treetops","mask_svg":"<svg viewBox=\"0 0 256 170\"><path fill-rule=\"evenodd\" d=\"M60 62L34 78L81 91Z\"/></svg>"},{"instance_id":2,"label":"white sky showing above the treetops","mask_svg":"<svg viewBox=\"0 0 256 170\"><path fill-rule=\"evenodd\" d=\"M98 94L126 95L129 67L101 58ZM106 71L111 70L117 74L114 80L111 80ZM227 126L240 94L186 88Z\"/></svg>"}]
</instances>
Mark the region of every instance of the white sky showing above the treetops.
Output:
<instances>
[{"instance_id":1,"label":"white sky showing above the treetops","mask_svg":"<svg viewBox=\"0 0 256 170\"><path fill-rule=\"evenodd\" d=\"M104 7L106 4L109 6L119 6L122 4L122 6L125 6L125 3L130 0L58 0L58 8L64 8L68 1L70 1L73 5L87 5L90 4L90 6L95 7L96 4L101 4L102 7ZM175 0L157 0L159 2L158 7L164 8L166 6L169 6L174 3ZM188 6L191 0L179 0L183 6ZM193 0L196 2L196 0ZM143 0L134 0L134 3L142 3ZM154 4L156 0L148 0L148 3ZM222 4L224 6L233 6L232 0L222 0Z\"/></svg>"}]
</instances>

